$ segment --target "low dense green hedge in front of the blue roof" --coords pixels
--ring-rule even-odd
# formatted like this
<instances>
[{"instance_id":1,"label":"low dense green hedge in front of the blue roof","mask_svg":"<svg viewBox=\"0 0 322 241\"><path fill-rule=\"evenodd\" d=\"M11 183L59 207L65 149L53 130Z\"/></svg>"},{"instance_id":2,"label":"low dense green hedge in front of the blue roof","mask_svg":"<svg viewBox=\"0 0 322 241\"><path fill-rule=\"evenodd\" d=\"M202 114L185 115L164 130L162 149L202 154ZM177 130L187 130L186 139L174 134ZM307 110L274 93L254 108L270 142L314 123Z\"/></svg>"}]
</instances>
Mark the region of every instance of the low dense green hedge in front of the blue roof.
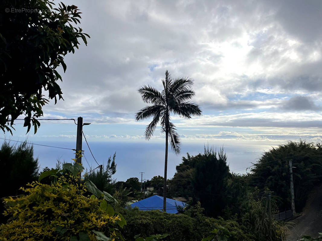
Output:
<instances>
[{"instance_id":1,"label":"low dense green hedge in front of the blue roof","mask_svg":"<svg viewBox=\"0 0 322 241\"><path fill-rule=\"evenodd\" d=\"M224 227L236 232L239 240L253 240L251 235L244 234L237 222L223 219L207 218L196 215L191 218L187 215L175 215L155 211L140 211L137 208L121 211L127 220L127 225L122 229L126 240L134 240L135 235L147 237L152 234L167 233L168 241L195 241L209 235L214 228Z\"/></svg>"}]
</instances>

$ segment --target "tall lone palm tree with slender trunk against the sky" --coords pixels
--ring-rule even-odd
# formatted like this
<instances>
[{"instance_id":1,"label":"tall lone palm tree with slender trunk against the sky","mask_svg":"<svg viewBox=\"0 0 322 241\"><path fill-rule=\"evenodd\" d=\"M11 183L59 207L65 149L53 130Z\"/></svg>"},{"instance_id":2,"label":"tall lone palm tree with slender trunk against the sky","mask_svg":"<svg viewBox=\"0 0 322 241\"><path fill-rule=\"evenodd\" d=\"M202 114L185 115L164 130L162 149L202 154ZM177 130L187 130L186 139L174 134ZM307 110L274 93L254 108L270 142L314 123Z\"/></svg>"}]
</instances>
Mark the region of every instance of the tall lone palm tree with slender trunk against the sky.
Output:
<instances>
[{"instance_id":1,"label":"tall lone palm tree with slender trunk against the sky","mask_svg":"<svg viewBox=\"0 0 322 241\"><path fill-rule=\"evenodd\" d=\"M143 85L138 89L142 100L145 103L152 104L146 106L136 113L136 120L145 120L152 117L152 121L145 129L145 138L149 140L157 123L160 121L161 132L166 133L166 155L164 163L164 185L163 185L163 210L166 211L166 171L168 162L168 140L170 140L171 149L176 155L180 153L180 137L176 132L175 125L170 122L170 114L179 115L185 119L192 116L200 116L202 111L198 105L189 102L195 95L191 89L193 80L187 77L173 79L166 70L166 78L162 80L164 89L160 93L152 86Z\"/></svg>"}]
</instances>

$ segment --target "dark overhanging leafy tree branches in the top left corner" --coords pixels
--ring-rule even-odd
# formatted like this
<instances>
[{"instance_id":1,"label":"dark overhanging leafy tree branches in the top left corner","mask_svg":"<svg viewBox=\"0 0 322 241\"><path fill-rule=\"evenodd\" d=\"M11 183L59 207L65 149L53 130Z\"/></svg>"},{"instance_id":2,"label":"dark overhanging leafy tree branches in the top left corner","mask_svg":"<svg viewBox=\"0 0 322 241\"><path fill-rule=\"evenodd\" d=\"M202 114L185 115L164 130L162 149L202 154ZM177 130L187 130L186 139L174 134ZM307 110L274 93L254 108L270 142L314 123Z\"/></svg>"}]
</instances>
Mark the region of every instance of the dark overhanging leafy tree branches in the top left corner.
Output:
<instances>
[{"instance_id":1,"label":"dark overhanging leafy tree branches in the top left corner","mask_svg":"<svg viewBox=\"0 0 322 241\"><path fill-rule=\"evenodd\" d=\"M42 91L55 103L62 99L56 69L66 71L64 56L79 48L80 39L87 44L89 35L72 25L81 18L75 5L53 8L49 0L4 0L0 8L10 10L0 13L0 129L12 132L10 126L24 114L27 132L31 125L36 132L36 118L48 103ZM17 11L23 9L30 11Z\"/></svg>"}]
</instances>

